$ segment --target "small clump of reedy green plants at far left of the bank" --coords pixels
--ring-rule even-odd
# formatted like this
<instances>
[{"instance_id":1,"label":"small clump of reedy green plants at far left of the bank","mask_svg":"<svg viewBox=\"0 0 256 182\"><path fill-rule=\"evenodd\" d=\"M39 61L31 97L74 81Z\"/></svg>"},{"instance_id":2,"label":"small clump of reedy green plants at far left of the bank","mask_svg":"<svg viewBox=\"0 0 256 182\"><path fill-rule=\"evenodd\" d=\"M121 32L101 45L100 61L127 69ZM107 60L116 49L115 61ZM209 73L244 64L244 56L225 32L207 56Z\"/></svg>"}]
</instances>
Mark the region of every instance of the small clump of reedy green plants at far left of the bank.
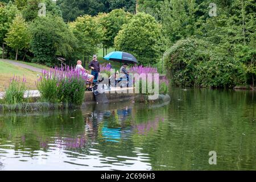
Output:
<instances>
[{"instance_id":1,"label":"small clump of reedy green plants at far left of the bank","mask_svg":"<svg viewBox=\"0 0 256 182\"><path fill-rule=\"evenodd\" d=\"M18 77L11 79L9 87L6 89L4 101L6 105L22 104L24 102L24 93L26 91L26 78L20 82Z\"/></svg>"}]
</instances>

